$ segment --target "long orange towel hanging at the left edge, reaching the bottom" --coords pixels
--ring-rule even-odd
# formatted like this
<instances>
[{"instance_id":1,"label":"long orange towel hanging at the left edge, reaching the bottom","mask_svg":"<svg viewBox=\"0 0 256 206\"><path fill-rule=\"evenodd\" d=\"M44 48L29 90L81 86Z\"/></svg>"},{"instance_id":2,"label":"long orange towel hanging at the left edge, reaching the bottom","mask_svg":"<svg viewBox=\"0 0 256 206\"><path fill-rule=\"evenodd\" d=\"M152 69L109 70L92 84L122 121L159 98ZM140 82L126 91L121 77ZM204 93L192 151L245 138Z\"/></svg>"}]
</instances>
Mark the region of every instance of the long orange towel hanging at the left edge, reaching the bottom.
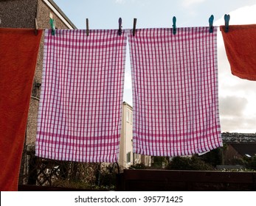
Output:
<instances>
[{"instance_id":1,"label":"long orange towel hanging at the left edge, reaching the bottom","mask_svg":"<svg viewBox=\"0 0 256 206\"><path fill-rule=\"evenodd\" d=\"M42 30L0 29L0 191L17 191Z\"/></svg>"}]
</instances>

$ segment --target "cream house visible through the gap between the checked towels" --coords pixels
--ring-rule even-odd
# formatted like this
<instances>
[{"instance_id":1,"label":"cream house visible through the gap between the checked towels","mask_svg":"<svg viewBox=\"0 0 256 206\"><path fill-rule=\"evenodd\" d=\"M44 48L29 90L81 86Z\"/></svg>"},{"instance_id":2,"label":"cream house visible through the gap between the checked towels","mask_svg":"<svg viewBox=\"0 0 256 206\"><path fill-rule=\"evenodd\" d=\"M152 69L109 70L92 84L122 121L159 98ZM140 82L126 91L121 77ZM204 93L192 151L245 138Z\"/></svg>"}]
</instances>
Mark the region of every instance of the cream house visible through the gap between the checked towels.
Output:
<instances>
[{"instance_id":1,"label":"cream house visible through the gap between the checked towels","mask_svg":"<svg viewBox=\"0 0 256 206\"><path fill-rule=\"evenodd\" d=\"M133 108L123 102L119 165L120 168L129 168L139 163L151 166L151 156L133 153Z\"/></svg>"}]
</instances>

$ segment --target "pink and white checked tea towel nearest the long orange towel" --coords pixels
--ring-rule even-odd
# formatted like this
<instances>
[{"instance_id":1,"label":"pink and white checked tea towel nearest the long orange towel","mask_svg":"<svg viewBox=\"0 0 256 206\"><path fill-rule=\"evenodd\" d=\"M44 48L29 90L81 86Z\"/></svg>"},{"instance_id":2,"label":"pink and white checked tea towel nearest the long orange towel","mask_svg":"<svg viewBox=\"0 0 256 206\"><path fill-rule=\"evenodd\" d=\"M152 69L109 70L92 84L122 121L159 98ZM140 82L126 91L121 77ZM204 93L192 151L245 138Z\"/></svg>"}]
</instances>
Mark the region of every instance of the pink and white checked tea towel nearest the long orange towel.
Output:
<instances>
[{"instance_id":1,"label":"pink and white checked tea towel nearest the long orange towel","mask_svg":"<svg viewBox=\"0 0 256 206\"><path fill-rule=\"evenodd\" d=\"M36 155L118 160L127 35L46 29Z\"/></svg>"}]
</instances>

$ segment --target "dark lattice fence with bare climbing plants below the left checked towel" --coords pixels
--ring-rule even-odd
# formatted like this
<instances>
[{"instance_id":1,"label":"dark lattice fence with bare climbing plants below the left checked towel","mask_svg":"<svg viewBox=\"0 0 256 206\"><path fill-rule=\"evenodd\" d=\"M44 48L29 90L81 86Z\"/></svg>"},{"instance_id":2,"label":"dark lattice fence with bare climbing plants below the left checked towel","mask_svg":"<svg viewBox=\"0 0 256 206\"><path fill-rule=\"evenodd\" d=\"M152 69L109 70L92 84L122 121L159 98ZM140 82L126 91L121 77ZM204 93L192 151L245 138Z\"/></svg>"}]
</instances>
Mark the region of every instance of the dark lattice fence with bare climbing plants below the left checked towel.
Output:
<instances>
[{"instance_id":1,"label":"dark lattice fence with bare climbing plants below the left checked towel","mask_svg":"<svg viewBox=\"0 0 256 206\"><path fill-rule=\"evenodd\" d=\"M116 164L110 163L76 163L36 157L35 146L27 146L21 164L19 190L113 190L118 169Z\"/></svg>"}]
</instances>

